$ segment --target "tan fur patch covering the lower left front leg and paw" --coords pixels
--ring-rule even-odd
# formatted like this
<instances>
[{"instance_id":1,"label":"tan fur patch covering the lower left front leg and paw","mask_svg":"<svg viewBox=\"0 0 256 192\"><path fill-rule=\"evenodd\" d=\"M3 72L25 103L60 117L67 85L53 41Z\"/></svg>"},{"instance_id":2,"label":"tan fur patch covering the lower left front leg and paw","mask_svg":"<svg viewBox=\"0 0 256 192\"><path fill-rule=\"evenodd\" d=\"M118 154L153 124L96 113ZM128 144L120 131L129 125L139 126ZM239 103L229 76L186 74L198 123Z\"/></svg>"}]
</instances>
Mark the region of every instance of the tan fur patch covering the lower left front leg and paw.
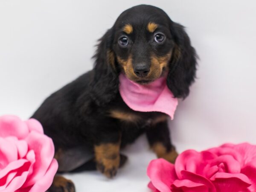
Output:
<instances>
[{"instance_id":1,"label":"tan fur patch covering the lower left front leg and paw","mask_svg":"<svg viewBox=\"0 0 256 192\"><path fill-rule=\"evenodd\" d=\"M117 170L120 163L120 143L106 143L94 146L95 160L98 164L98 169L107 177L112 177L113 169ZM103 166L103 168L99 167Z\"/></svg>"}]
</instances>

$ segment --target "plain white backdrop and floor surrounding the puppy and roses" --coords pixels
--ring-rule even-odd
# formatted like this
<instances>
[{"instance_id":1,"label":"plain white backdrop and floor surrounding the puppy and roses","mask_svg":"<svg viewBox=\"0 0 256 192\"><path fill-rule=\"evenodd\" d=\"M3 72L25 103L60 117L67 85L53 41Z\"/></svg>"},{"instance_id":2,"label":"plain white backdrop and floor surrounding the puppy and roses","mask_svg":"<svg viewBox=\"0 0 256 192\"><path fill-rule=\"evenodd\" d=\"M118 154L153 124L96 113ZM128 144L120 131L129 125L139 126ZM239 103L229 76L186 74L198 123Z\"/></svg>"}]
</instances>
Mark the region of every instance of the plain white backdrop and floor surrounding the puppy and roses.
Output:
<instances>
[{"instance_id":1,"label":"plain white backdrop and floor surrounding the puppy and roses","mask_svg":"<svg viewBox=\"0 0 256 192\"><path fill-rule=\"evenodd\" d=\"M225 142L256 144L255 0L0 0L0 115L29 118L53 91L90 70L96 40L118 15L141 3L186 26L200 56L198 79L171 122L177 150ZM113 180L67 175L77 192L148 192L155 158L144 137L124 151Z\"/></svg>"}]
</instances>

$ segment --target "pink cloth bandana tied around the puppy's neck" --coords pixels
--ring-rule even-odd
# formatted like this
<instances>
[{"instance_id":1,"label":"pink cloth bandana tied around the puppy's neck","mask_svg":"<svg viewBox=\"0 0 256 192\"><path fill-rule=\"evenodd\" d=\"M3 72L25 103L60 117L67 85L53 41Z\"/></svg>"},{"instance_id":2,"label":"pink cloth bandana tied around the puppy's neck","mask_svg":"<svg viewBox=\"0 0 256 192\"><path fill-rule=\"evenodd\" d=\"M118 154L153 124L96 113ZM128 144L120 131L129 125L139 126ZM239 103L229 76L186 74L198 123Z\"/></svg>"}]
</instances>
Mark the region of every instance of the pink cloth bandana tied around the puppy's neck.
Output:
<instances>
[{"instance_id":1,"label":"pink cloth bandana tied around the puppy's neck","mask_svg":"<svg viewBox=\"0 0 256 192\"><path fill-rule=\"evenodd\" d=\"M120 95L129 108L142 112L162 112L173 119L178 100L167 87L166 78L161 77L150 84L141 85L121 73L119 82Z\"/></svg>"}]
</instances>

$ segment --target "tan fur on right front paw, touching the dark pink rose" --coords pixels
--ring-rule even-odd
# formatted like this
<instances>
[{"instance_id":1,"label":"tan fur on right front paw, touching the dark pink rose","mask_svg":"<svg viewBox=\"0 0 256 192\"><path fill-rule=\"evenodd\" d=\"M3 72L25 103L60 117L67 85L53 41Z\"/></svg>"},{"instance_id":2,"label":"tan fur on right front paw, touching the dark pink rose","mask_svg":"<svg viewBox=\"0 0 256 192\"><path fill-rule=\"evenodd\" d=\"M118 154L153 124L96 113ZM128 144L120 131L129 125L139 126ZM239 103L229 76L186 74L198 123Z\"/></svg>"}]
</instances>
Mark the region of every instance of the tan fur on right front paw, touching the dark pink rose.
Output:
<instances>
[{"instance_id":1,"label":"tan fur on right front paw, touching the dark pink rose","mask_svg":"<svg viewBox=\"0 0 256 192\"><path fill-rule=\"evenodd\" d=\"M171 163L175 163L178 154L174 148L171 151L167 152L166 147L162 143L158 142L152 146L152 149L157 154L158 158L164 158Z\"/></svg>"}]
</instances>

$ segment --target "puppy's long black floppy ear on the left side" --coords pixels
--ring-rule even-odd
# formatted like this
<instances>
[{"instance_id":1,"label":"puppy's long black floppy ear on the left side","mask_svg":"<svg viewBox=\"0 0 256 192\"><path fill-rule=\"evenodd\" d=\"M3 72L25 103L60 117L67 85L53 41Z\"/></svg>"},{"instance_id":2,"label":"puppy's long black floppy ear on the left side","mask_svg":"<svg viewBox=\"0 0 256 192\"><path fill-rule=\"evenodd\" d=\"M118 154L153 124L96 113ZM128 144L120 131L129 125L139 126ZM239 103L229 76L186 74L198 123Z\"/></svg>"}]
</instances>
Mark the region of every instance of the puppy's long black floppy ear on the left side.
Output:
<instances>
[{"instance_id":1,"label":"puppy's long black floppy ear on the left side","mask_svg":"<svg viewBox=\"0 0 256 192\"><path fill-rule=\"evenodd\" d=\"M118 74L116 72L116 59L112 50L113 29L109 29L99 39L97 50L93 58L93 77L90 82L90 95L97 105L105 105L116 96L118 92Z\"/></svg>"}]
</instances>

